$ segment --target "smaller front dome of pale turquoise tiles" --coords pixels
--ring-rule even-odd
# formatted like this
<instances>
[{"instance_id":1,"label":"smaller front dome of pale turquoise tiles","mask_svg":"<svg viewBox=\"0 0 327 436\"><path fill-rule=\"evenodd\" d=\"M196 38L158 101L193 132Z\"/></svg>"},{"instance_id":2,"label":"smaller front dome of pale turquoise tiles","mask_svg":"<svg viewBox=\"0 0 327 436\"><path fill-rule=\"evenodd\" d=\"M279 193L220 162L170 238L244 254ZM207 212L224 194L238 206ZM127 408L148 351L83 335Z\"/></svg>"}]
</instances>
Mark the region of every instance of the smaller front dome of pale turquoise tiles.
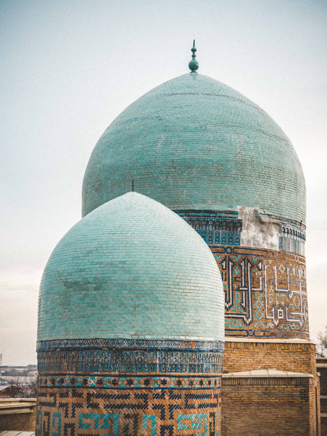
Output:
<instances>
[{"instance_id":1,"label":"smaller front dome of pale turquoise tiles","mask_svg":"<svg viewBox=\"0 0 327 436\"><path fill-rule=\"evenodd\" d=\"M224 292L208 245L135 192L78 221L42 276L38 341L95 337L224 341Z\"/></svg>"}]
</instances>

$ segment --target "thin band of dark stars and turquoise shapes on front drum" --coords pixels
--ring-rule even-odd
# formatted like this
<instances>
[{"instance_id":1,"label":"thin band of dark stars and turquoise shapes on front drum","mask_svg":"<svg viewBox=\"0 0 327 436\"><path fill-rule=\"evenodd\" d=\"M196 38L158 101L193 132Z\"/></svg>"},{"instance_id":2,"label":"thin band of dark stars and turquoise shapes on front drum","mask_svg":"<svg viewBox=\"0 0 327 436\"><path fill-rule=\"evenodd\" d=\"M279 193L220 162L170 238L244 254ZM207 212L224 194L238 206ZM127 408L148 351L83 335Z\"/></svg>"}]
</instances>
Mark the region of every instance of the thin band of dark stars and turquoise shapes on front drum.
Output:
<instances>
[{"instance_id":1,"label":"thin band of dark stars and turquoise shapes on front drum","mask_svg":"<svg viewBox=\"0 0 327 436\"><path fill-rule=\"evenodd\" d=\"M39 375L39 388L99 388L99 389L216 389L220 377L110 377L78 374Z\"/></svg>"}]
</instances>

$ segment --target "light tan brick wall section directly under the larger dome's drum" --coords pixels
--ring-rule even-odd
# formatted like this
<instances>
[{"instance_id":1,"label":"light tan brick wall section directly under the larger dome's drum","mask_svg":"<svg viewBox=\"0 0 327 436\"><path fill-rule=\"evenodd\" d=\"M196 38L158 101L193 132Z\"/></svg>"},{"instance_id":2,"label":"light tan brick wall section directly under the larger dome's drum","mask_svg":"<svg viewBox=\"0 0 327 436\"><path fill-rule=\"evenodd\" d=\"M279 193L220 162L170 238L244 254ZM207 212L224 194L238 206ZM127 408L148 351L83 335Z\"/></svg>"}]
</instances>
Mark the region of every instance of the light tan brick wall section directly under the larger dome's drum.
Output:
<instances>
[{"instance_id":1,"label":"light tan brick wall section directly under the larger dome's drum","mask_svg":"<svg viewBox=\"0 0 327 436\"><path fill-rule=\"evenodd\" d=\"M315 344L225 342L224 374L272 368L316 375Z\"/></svg>"}]
</instances>

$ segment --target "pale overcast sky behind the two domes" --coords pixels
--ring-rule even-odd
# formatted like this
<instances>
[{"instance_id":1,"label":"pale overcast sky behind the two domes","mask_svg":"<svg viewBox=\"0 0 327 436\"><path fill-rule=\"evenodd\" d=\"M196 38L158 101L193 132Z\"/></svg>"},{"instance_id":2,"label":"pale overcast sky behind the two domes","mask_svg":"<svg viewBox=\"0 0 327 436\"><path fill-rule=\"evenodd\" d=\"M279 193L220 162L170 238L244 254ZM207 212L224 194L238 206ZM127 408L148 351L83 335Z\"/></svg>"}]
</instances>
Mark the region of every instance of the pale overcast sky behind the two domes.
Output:
<instances>
[{"instance_id":1,"label":"pale overcast sky behind the two domes","mask_svg":"<svg viewBox=\"0 0 327 436\"><path fill-rule=\"evenodd\" d=\"M246 95L282 127L307 182L313 340L327 324L327 2L0 1L0 353L36 363L37 294L81 218L99 136L131 102L188 72Z\"/></svg>"}]
</instances>

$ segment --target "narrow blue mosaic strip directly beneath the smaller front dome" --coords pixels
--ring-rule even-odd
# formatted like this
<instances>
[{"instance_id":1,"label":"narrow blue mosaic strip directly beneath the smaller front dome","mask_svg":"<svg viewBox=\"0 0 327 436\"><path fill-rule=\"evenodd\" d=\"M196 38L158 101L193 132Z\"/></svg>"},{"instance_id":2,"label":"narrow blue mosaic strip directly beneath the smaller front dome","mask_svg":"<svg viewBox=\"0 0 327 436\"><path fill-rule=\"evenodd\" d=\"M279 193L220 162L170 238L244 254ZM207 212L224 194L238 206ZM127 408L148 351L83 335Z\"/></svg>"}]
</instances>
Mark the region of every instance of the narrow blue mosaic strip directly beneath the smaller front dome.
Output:
<instances>
[{"instance_id":1,"label":"narrow blue mosaic strip directly beneath the smaller front dome","mask_svg":"<svg viewBox=\"0 0 327 436\"><path fill-rule=\"evenodd\" d=\"M175 339L126 339L126 338L88 338L53 339L38 341L37 351L57 350L58 348L163 348L224 351L220 341L188 341Z\"/></svg>"}]
</instances>

